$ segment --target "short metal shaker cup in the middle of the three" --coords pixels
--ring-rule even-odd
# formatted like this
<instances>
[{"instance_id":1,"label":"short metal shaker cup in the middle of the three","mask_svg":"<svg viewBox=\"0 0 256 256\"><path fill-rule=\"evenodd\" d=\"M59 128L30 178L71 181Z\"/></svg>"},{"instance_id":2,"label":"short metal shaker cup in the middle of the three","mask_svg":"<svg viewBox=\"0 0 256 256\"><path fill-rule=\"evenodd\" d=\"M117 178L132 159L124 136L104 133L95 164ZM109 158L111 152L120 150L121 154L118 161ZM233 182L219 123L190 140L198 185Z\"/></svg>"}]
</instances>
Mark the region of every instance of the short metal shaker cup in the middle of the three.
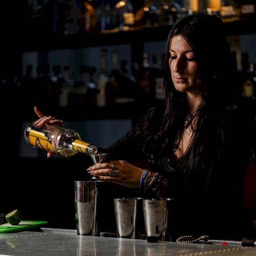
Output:
<instances>
[{"instance_id":1,"label":"short metal shaker cup in the middle of the three","mask_svg":"<svg viewBox=\"0 0 256 256\"><path fill-rule=\"evenodd\" d=\"M136 232L137 222L137 199L136 198L115 198L114 199L117 237L138 238Z\"/></svg>"}]
</instances>

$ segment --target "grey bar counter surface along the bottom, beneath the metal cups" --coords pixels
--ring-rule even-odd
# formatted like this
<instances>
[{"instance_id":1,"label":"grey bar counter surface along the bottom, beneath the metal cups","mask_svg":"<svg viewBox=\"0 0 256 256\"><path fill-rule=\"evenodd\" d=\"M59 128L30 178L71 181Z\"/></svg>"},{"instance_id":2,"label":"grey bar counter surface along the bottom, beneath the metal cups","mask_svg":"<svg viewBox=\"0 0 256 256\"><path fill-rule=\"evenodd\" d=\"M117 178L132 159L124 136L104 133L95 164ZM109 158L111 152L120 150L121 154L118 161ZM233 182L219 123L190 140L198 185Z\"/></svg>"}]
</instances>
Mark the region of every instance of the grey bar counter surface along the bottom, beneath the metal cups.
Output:
<instances>
[{"instance_id":1,"label":"grey bar counter surface along the bottom, beneath the metal cups","mask_svg":"<svg viewBox=\"0 0 256 256\"><path fill-rule=\"evenodd\" d=\"M1 255L256 255L256 248L241 242L212 240L212 244L79 236L76 230L40 228L35 231L0 234Z\"/></svg>"}]
</instances>

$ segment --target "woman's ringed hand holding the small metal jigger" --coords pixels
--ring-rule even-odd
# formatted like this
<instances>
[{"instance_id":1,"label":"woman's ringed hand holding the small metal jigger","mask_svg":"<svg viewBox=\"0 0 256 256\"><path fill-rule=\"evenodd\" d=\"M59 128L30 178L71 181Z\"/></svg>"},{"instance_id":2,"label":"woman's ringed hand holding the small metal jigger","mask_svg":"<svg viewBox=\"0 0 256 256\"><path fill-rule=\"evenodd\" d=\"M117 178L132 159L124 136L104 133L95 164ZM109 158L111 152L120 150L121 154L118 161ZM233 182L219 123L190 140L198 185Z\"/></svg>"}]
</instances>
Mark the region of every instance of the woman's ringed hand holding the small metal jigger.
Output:
<instances>
[{"instance_id":1,"label":"woman's ringed hand holding the small metal jigger","mask_svg":"<svg viewBox=\"0 0 256 256\"><path fill-rule=\"evenodd\" d=\"M143 169L122 160L98 163L87 170L89 174L97 176L98 180L111 181L133 188L140 187L143 174Z\"/></svg>"}]
</instances>

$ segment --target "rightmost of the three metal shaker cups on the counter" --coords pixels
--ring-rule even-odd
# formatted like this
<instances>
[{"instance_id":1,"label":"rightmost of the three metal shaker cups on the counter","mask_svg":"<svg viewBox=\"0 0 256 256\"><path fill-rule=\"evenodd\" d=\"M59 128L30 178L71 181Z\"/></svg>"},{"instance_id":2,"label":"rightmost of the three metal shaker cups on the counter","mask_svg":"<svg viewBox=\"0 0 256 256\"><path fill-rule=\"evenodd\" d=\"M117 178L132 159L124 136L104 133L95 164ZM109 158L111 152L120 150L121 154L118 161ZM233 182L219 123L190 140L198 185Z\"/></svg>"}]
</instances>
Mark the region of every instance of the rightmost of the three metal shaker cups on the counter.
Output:
<instances>
[{"instance_id":1,"label":"rightmost of the three metal shaker cups on the counter","mask_svg":"<svg viewBox=\"0 0 256 256\"><path fill-rule=\"evenodd\" d=\"M146 238L148 242L159 240L168 241L168 207L169 198L164 199L144 199L143 214L145 222Z\"/></svg>"}]
</instances>

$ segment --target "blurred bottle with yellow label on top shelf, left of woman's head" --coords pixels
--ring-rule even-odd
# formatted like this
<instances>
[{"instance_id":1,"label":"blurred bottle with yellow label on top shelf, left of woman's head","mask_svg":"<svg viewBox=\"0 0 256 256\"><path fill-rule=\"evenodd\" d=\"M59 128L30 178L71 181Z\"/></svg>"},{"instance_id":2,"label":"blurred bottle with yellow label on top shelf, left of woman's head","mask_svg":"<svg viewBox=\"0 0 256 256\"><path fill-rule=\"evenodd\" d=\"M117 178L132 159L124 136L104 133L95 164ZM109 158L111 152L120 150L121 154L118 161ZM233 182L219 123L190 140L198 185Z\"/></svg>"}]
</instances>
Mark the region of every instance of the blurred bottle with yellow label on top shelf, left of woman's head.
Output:
<instances>
[{"instance_id":1,"label":"blurred bottle with yellow label on top shelf, left of woman's head","mask_svg":"<svg viewBox=\"0 0 256 256\"><path fill-rule=\"evenodd\" d=\"M114 6L113 23L119 30L127 30L134 26L134 8L130 0L121 0Z\"/></svg>"}]
</instances>

